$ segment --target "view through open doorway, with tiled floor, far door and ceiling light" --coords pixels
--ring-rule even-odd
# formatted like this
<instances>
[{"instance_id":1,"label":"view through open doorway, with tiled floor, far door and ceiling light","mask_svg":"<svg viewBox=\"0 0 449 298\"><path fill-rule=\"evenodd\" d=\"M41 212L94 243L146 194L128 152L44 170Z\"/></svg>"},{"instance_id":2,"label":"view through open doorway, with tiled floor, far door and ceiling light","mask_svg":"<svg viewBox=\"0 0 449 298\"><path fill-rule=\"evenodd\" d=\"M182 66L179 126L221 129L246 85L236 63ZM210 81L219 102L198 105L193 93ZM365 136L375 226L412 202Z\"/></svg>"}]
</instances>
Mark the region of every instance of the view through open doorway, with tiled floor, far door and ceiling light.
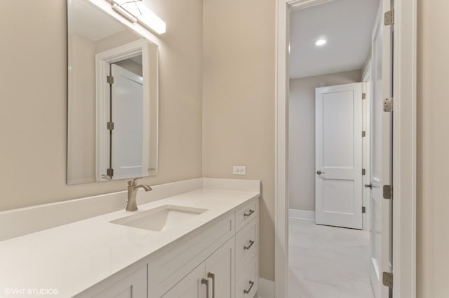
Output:
<instances>
[{"instance_id":1,"label":"view through open doorway, with tiled floor, far door and ceiling light","mask_svg":"<svg viewBox=\"0 0 449 298\"><path fill-rule=\"evenodd\" d=\"M290 11L290 297L375 297L363 226L370 94L362 76L378 7L378 0L340 0Z\"/></svg>"}]
</instances>

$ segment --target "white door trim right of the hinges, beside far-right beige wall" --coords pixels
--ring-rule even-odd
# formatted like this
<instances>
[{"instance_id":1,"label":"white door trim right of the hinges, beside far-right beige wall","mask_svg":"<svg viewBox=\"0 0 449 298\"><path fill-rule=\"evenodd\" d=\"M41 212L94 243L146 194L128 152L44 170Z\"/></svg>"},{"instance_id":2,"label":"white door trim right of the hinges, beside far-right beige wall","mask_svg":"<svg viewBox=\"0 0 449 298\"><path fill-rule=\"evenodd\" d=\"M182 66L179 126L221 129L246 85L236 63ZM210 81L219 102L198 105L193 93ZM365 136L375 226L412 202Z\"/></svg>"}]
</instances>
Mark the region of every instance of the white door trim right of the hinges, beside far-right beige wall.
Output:
<instances>
[{"instance_id":1,"label":"white door trim right of the hinges, beside far-right beige wall","mask_svg":"<svg viewBox=\"0 0 449 298\"><path fill-rule=\"evenodd\" d=\"M394 1L393 297L416 297L417 0Z\"/></svg>"}]
</instances>

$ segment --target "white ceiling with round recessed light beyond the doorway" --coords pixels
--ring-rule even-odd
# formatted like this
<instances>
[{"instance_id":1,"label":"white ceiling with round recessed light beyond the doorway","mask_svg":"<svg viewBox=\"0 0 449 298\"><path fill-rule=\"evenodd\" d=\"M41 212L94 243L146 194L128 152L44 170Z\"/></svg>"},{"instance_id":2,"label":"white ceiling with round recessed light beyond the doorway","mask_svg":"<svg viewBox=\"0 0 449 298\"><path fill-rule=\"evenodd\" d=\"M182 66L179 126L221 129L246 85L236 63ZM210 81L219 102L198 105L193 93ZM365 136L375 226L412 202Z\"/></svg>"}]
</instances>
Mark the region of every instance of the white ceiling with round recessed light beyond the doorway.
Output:
<instances>
[{"instance_id":1,"label":"white ceiling with round recessed light beyond the doorway","mask_svg":"<svg viewBox=\"0 0 449 298\"><path fill-rule=\"evenodd\" d=\"M290 13L290 78L361 69L379 0L333 0ZM324 38L326 45L315 41Z\"/></svg>"}]
</instances>

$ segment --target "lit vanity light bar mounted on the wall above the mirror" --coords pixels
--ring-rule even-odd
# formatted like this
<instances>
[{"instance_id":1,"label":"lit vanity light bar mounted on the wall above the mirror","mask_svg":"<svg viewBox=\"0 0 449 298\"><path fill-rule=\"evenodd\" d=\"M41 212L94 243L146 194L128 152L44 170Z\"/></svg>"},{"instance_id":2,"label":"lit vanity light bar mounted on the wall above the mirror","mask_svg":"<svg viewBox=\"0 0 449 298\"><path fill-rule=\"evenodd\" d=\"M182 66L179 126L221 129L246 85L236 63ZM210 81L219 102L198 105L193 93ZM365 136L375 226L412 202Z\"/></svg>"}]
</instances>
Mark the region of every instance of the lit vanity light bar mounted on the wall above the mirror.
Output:
<instances>
[{"instance_id":1,"label":"lit vanity light bar mounted on the wall above the mirror","mask_svg":"<svg viewBox=\"0 0 449 298\"><path fill-rule=\"evenodd\" d=\"M166 32L166 22L149 10L142 0L112 0L112 9L157 34Z\"/></svg>"}]
</instances>

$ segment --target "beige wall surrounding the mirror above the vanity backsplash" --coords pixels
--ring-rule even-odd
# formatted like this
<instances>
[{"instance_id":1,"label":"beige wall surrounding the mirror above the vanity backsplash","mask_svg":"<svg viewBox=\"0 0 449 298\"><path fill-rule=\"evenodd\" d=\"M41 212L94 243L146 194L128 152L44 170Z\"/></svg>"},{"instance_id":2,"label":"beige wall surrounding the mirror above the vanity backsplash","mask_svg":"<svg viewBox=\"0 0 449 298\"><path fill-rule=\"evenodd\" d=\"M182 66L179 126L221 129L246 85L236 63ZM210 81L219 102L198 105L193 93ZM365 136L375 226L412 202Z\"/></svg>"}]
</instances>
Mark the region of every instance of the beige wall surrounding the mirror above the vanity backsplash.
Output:
<instances>
[{"instance_id":1,"label":"beige wall surrounding the mirror above the vanity backsplash","mask_svg":"<svg viewBox=\"0 0 449 298\"><path fill-rule=\"evenodd\" d=\"M142 179L149 185L201 177L202 162L202 1L154 2L168 32L159 44L159 176ZM0 1L0 210L126 190L126 180L66 184L66 5Z\"/></svg>"}]
</instances>

